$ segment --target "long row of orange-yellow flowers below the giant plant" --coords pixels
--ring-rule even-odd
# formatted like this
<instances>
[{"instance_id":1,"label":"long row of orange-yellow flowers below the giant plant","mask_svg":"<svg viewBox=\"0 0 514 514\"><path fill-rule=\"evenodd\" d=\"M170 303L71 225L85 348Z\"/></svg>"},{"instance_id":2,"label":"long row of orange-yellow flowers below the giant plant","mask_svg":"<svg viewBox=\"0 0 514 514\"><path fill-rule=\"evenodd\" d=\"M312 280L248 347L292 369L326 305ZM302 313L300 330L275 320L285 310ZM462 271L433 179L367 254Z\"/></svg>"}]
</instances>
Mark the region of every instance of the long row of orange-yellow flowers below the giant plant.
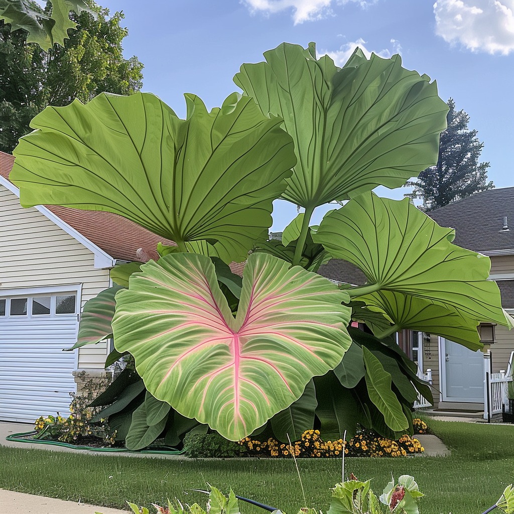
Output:
<instances>
[{"instance_id":1,"label":"long row of orange-yellow flowers below the giant plant","mask_svg":"<svg viewBox=\"0 0 514 514\"><path fill-rule=\"evenodd\" d=\"M348 441L323 440L319 430L306 430L300 440L291 444L279 443L273 437L265 441L245 437L239 444L246 448L246 455L252 457L337 457L343 452L348 457L400 457L425 450L408 434L394 441L368 430L362 430Z\"/></svg>"}]
</instances>

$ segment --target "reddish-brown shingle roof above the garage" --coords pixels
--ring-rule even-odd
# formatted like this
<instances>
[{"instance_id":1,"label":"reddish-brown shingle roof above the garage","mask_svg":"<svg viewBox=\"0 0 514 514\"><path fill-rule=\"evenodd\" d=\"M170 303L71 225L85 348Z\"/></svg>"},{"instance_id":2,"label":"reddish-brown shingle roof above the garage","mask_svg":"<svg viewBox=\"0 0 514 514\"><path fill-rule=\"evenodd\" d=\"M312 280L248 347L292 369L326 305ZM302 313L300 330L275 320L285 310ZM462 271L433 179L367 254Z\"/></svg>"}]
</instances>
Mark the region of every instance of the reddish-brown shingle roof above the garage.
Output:
<instances>
[{"instance_id":1,"label":"reddish-brown shingle roof above the garage","mask_svg":"<svg viewBox=\"0 0 514 514\"><path fill-rule=\"evenodd\" d=\"M9 178L14 157L0 152L0 175ZM64 222L87 237L114 259L122 261L142 260L137 250L155 251L157 243L174 245L122 216L110 212L81 211L60 206L46 206Z\"/></svg>"}]
</instances>

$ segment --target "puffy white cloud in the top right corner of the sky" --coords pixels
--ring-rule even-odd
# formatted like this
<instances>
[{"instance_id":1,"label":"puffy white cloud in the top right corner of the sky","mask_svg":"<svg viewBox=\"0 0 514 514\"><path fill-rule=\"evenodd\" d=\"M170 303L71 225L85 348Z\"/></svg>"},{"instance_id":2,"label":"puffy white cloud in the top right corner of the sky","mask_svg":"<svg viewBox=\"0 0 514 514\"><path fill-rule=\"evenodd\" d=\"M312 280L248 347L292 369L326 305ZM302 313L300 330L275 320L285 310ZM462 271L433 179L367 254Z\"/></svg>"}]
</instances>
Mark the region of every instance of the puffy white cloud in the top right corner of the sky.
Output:
<instances>
[{"instance_id":1,"label":"puffy white cloud in the top right corner of the sky","mask_svg":"<svg viewBox=\"0 0 514 514\"><path fill-rule=\"evenodd\" d=\"M514 51L514 0L437 0L435 31L472 51Z\"/></svg>"}]
</instances>

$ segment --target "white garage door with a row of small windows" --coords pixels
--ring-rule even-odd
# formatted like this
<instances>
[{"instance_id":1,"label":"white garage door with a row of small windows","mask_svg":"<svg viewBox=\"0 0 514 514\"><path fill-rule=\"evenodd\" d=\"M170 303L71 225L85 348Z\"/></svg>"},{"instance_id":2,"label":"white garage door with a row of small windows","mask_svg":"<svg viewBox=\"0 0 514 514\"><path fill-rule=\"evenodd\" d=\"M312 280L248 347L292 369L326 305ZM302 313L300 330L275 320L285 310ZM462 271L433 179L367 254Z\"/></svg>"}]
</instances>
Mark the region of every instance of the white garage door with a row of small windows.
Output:
<instances>
[{"instance_id":1,"label":"white garage door with a row of small windows","mask_svg":"<svg viewBox=\"0 0 514 514\"><path fill-rule=\"evenodd\" d=\"M69 414L76 352L77 291L1 296L0 420L32 423Z\"/></svg>"}]
</instances>

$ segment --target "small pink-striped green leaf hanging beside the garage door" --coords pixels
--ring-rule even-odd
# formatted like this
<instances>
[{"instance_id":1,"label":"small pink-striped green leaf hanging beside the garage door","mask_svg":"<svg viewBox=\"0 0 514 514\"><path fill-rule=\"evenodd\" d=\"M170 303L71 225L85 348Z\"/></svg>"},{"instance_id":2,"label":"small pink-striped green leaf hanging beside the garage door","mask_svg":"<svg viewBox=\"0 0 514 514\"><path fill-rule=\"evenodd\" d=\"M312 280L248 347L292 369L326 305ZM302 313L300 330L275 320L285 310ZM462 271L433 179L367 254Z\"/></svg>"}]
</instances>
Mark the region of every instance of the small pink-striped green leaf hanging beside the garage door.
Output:
<instances>
[{"instance_id":1,"label":"small pink-striped green leaf hanging beside the garage door","mask_svg":"<svg viewBox=\"0 0 514 514\"><path fill-rule=\"evenodd\" d=\"M100 292L95 298L87 300L80 315L77 342L67 350L75 350L85 344L96 344L111 336L111 322L116 308L114 297L121 289L124 287L114 285Z\"/></svg>"}]
</instances>

